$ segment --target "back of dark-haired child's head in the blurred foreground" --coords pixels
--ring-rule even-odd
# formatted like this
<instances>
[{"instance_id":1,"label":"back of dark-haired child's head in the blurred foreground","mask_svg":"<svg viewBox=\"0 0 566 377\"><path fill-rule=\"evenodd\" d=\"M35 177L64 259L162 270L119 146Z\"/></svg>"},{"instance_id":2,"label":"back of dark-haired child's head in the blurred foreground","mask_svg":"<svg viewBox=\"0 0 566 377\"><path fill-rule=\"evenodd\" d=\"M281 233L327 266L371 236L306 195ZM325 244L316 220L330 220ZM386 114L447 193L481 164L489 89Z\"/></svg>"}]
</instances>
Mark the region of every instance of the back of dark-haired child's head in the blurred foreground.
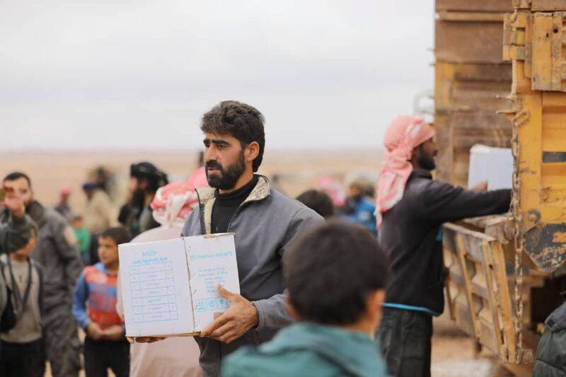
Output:
<instances>
[{"instance_id":1,"label":"back of dark-haired child's head in the blurred foreground","mask_svg":"<svg viewBox=\"0 0 566 377\"><path fill-rule=\"evenodd\" d=\"M291 316L373 335L388 262L365 228L337 220L312 228L285 254L284 271Z\"/></svg>"}]
</instances>

